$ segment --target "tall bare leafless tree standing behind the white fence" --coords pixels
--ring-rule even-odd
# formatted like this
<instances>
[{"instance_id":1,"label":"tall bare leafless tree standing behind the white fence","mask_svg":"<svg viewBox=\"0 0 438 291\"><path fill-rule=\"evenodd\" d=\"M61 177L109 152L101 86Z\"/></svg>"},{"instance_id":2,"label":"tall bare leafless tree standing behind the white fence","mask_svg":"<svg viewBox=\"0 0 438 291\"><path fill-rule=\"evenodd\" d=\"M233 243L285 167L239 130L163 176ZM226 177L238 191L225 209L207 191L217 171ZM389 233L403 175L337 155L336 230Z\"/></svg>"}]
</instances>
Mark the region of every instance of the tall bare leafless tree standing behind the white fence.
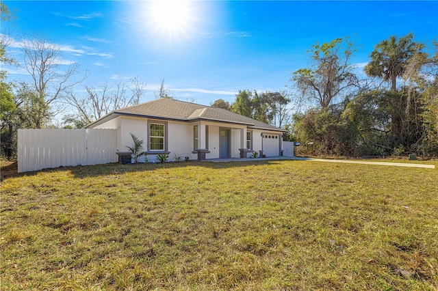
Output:
<instances>
[{"instance_id":1,"label":"tall bare leafless tree standing behind the white fence","mask_svg":"<svg viewBox=\"0 0 438 291\"><path fill-rule=\"evenodd\" d=\"M41 128L44 119L53 117L61 111L61 99L65 98L75 85L86 79L85 74L79 74L79 65L66 65L62 70L60 46L48 42L44 36L34 36L22 40L23 64L31 77L31 86L38 93L41 107L40 119L36 128Z\"/></svg>"}]
</instances>

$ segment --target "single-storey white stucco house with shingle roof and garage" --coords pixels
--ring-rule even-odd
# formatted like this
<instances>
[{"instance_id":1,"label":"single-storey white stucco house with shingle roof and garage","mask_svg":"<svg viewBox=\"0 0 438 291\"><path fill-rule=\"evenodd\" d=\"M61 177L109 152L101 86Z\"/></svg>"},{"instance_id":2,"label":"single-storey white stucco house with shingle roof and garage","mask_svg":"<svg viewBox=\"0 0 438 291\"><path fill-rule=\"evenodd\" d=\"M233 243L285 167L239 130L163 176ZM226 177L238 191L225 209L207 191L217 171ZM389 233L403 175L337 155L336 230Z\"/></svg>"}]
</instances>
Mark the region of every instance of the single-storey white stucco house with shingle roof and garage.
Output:
<instances>
[{"instance_id":1,"label":"single-storey white stucco house with shingle roof and garage","mask_svg":"<svg viewBox=\"0 0 438 291\"><path fill-rule=\"evenodd\" d=\"M280 156L285 130L225 109L168 98L118 109L86 128L115 128L117 150L126 152L133 141L143 139L149 161L159 153L183 158L247 158L257 151Z\"/></svg>"}]
</instances>

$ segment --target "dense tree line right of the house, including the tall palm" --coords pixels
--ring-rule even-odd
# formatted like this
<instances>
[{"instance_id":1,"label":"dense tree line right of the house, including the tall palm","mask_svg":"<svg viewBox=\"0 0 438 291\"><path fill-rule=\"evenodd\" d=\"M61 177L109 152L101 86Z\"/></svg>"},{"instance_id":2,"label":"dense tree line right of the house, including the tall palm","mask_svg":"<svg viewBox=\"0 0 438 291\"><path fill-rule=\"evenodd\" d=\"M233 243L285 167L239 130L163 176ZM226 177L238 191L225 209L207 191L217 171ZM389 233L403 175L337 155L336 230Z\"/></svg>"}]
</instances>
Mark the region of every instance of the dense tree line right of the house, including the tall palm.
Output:
<instances>
[{"instance_id":1,"label":"dense tree line right of the house, including the tall palm","mask_svg":"<svg viewBox=\"0 0 438 291\"><path fill-rule=\"evenodd\" d=\"M438 156L438 43L430 54L412 33L391 36L363 72L351 62L356 49L348 37L316 43L288 92L244 90L212 106L285 128L303 154Z\"/></svg>"}]
</instances>

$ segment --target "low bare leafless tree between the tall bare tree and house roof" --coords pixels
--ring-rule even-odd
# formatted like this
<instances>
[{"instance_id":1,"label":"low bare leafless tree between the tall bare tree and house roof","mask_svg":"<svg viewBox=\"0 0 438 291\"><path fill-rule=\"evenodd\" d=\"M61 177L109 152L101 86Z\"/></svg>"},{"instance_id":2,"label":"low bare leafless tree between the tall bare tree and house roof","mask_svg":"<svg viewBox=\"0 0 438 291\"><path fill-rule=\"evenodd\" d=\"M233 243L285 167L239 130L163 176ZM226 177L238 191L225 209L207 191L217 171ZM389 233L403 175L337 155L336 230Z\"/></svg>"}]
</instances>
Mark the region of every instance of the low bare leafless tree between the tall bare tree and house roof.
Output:
<instances>
[{"instance_id":1,"label":"low bare leafless tree between the tall bare tree and house roof","mask_svg":"<svg viewBox=\"0 0 438 291\"><path fill-rule=\"evenodd\" d=\"M105 81L96 88L85 86L87 94L82 96L70 92L67 102L75 114L67 115L64 121L75 126L86 125L116 109L137 105L145 87L146 83L134 78L129 85L120 81L112 87Z\"/></svg>"}]
</instances>

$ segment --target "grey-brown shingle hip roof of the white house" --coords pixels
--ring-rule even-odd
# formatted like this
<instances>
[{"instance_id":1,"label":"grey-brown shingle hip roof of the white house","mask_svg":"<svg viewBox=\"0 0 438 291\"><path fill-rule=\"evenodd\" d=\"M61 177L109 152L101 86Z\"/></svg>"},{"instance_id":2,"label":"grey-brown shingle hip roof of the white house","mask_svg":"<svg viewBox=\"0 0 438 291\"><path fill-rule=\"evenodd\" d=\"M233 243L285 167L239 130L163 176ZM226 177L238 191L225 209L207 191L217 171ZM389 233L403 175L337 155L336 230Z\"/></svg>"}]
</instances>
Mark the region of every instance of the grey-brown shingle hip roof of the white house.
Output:
<instances>
[{"instance_id":1,"label":"grey-brown shingle hip roof of the white house","mask_svg":"<svg viewBox=\"0 0 438 291\"><path fill-rule=\"evenodd\" d=\"M172 100L169 98L161 98L144 102L139 105L118 109L115 110L114 113L181 121L212 120L217 122L246 124L248 128L285 131L281 128L259 122L258 120L253 120L252 118L225 109Z\"/></svg>"}]
</instances>

